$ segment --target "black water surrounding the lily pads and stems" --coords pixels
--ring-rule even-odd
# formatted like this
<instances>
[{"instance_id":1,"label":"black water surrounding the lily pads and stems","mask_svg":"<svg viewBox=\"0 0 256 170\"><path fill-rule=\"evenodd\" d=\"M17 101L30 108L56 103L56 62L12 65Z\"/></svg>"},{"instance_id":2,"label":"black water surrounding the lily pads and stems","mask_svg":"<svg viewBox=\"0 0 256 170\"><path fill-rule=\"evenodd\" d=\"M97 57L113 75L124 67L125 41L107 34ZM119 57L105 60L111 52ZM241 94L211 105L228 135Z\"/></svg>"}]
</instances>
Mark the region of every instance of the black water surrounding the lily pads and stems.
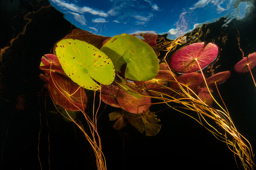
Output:
<instances>
[{"instance_id":1,"label":"black water surrounding the lily pads and stems","mask_svg":"<svg viewBox=\"0 0 256 170\"><path fill-rule=\"evenodd\" d=\"M38 77L41 56L52 52L54 43L75 27L54 8L41 8L49 5L45 0L40 3L5 0L0 4L1 49L10 46L3 53L0 65L0 168L40 169L39 145L43 170L49 169L49 162L52 170L96 169L93 151L79 129L65 122L61 115L49 112L53 110L52 101L45 97L45 91L41 90L44 82ZM244 19L232 20L227 27L222 27L224 20L206 25L202 31L204 34L207 29L210 31L200 40L215 42L221 49L216 63L220 67L215 71L230 70L231 77L219 85L220 92L237 130L256 152L256 87L249 73L233 71L242 58L239 43L244 56L256 51L256 11L254 8ZM227 36L226 43L222 42L224 36ZM18 38L10 43L15 37ZM256 75L256 69L252 72ZM15 108L17 96L21 97L21 103L26 101L20 111ZM163 107L158 105L152 111ZM98 122L108 170L238 169L226 144L186 115L173 110L159 113L160 133L148 137L131 126L114 130L113 122L108 121L108 113L113 110L106 108Z\"/></svg>"}]
</instances>

